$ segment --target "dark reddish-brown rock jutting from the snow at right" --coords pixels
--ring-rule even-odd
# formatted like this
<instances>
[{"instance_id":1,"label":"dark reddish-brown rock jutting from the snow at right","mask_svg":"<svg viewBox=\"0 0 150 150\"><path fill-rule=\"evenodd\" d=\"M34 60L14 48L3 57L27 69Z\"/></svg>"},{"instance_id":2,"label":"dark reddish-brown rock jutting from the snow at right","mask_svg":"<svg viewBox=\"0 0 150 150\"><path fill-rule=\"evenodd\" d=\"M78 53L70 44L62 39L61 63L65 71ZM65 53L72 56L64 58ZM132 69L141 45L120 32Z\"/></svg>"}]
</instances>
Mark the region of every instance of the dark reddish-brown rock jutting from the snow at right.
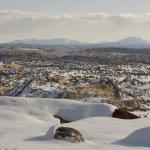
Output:
<instances>
[{"instance_id":1,"label":"dark reddish-brown rock jutting from the snow at right","mask_svg":"<svg viewBox=\"0 0 150 150\"><path fill-rule=\"evenodd\" d=\"M139 118L138 116L136 116L128 111L122 110L122 109L115 109L112 117L120 118L120 119L137 119L137 118Z\"/></svg>"}]
</instances>

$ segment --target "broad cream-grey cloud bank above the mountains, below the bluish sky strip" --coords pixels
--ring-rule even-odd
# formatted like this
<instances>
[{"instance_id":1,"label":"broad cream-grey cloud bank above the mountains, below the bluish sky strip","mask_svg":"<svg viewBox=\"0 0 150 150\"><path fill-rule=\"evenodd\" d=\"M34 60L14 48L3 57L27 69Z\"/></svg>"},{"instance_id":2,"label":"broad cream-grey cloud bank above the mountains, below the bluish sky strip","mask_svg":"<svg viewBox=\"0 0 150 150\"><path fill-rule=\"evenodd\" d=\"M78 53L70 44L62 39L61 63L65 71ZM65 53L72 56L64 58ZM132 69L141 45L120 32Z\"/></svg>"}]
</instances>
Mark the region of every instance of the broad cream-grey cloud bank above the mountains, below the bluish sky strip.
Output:
<instances>
[{"instance_id":1,"label":"broad cream-grey cloud bank above the mountains, below the bluish sky strip","mask_svg":"<svg viewBox=\"0 0 150 150\"><path fill-rule=\"evenodd\" d=\"M0 10L1 41L65 37L81 41L115 40L137 35L150 39L150 13L102 12L48 14Z\"/></svg>"}]
</instances>

